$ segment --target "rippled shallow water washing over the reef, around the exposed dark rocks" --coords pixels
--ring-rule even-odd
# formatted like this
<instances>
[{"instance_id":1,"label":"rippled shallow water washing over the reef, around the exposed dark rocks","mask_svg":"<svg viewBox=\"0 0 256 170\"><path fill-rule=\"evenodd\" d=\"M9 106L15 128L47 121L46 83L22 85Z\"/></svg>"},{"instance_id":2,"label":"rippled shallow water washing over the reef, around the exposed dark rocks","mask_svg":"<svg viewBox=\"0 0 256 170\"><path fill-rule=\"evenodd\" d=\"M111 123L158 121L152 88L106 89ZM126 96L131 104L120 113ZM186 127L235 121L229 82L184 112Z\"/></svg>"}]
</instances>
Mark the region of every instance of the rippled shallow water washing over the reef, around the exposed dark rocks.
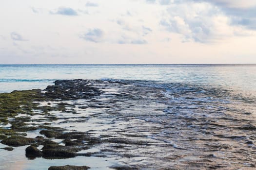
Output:
<instances>
[{"instance_id":1,"label":"rippled shallow water washing over the reef, around the exposed dark rocks","mask_svg":"<svg viewBox=\"0 0 256 170\"><path fill-rule=\"evenodd\" d=\"M95 162L100 163L101 169L113 165L149 170L255 169L254 95L193 83L114 79L89 83L100 89L100 96L65 101L73 105L68 109L77 113L54 111L51 114L59 119L49 122L45 118L45 121L51 126L87 132L108 142L96 144L89 150L92 157L68 160L28 160L24 157L24 148L18 147L8 154L19 159L6 156L0 160L1 166L15 163L22 167L24 164L22 169L30 170L73 161L94 169L98 168L92 165ZM39 117L32 117L33 123L36 119ZM38 131L29 135L33 133L39 135ZM0 151L0 157L5 157L6 152ZM103 164L105 160L108 161Z\"/></svg>"}]
</instances>

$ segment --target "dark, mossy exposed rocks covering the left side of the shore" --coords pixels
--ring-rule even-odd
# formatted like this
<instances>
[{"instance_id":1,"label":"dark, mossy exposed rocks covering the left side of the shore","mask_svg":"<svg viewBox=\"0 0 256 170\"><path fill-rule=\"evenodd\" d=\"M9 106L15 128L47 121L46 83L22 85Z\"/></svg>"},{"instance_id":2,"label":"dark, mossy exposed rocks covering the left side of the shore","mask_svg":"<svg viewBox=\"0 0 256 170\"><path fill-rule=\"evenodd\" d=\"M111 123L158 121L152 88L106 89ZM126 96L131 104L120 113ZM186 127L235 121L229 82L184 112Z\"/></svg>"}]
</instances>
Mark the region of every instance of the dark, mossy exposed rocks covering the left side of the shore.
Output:
<instances>
[{"instance_id":1,"label":"dark, mossy exposed rocks covering the left side of the shore","mask_svg":"<svg viewBox=\"0 0 256 170\"><path fill-rule=\"evenodd\" d=\"M98 83L101 82L98 81ZM91 156L92 153L77 152L87 150L99 143L129 143L129 140L106 140L100 137L90 136L88 132L70 132L61 127L50 126L53 120L63 119L51 114L51 111L77 114L75 109L72 109L76 105L65 101L79 99L90 100L100 95L100 90L90 84L90 81L81 79L72 81L63 80L55 81L55 85L49 85L45 90L33 89L0 94L0 124L2 125L0 127L0 142L8 146L0 149L13 151L14 148L12 147L30 145L25 150L26 157L29 159L35 159L36 157L61 159L76 156ZM40 105L41 102L46 102L46 104ZM79 103L77 104L79 105ZM70 109L67 109L67 107L70 107ZM97 105L92 107L100 108ZM86 109L87 107L82 106L79 108ZM36 119L35 121L43 123L33 123L31 117L37 115L43 116L44 118ZM86 118L80 117L80 119ZM31 123L27 123L30 121ZM6 128L4 127L6 125L9 126ZM37 130L39 130L40 136L36 136L35 138L26 137L26 132ZM61 139L61 142L54 142L51 139ZM39 150L39 146L43 147ZM119 169L119 167L116 168ZM128 166L127 168L130 169ZM89 167L69 165L49 168L49 170L87 169Z\"/></svg>"}]
</instances>

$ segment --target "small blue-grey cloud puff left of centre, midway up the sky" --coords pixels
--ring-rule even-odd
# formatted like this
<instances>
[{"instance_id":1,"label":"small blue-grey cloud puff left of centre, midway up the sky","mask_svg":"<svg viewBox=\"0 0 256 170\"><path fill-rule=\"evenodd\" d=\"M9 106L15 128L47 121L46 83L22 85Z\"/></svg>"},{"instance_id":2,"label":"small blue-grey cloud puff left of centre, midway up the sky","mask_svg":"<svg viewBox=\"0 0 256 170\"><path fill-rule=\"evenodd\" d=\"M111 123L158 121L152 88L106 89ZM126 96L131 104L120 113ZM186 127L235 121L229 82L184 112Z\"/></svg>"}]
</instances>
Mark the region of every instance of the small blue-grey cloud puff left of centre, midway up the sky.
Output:
<instances>
[{"instance_id":1,"label":"small blue-grey cloud puff left of centre, midway up the sky","mask_svg":"<svg viewBox=\"0 0 256 170\"><path fill-rule=\"evenodd\" d=\"M103 35L104 35L104 32L101 29L95 28L95 29L90 29L88 32L84 34L81 34L79 37L86 41L98 43L102 41Z\"/></svg>"}]
</instances>

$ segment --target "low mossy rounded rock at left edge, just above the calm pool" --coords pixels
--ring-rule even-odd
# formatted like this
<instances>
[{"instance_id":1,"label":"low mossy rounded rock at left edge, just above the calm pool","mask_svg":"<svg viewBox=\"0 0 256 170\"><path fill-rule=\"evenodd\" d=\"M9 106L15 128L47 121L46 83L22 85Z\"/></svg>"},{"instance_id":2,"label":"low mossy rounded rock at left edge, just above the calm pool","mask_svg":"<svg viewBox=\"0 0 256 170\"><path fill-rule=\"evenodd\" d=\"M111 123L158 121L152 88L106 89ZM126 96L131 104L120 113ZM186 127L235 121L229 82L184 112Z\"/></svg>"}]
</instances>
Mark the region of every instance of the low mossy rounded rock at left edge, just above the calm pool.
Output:
<instances>
[{"instance_id":1,"label":"low mossy rounded rock at left edge, just above the calm pool","mask_svg":"<svg viewBox=\"0 0 256 170\"><path fill-rule=\"evenodd\" d=\"M11 136L1 141L2 144L8 146L24 146L35 143L36 139L34 138L27 138L23 136Z\"/></svg>"}]
</instances>

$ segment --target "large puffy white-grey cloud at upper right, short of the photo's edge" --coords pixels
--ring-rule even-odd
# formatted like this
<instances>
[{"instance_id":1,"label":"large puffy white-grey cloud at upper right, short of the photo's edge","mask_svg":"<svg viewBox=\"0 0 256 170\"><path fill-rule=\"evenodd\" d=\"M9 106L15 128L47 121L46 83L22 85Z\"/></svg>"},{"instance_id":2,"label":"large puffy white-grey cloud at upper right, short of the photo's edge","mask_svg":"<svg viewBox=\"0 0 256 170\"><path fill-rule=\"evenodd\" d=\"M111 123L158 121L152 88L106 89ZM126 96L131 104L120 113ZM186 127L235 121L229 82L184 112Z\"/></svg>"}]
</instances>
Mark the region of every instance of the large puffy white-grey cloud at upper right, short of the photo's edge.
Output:
<instances>
[{"instance_id":1,"label":"large puffy white-grey cloud at upper right, short of the photo's edge","mask_svg":"<svg viewBox=\"0 0 256 170\"><path fill-rule=\"evenodd\" d=\"M177 3L168 7L160 21L169 32L186 41L208 43L235 35L232 19L220 8L207 2Z\"/></svg>"}]
</instances>

